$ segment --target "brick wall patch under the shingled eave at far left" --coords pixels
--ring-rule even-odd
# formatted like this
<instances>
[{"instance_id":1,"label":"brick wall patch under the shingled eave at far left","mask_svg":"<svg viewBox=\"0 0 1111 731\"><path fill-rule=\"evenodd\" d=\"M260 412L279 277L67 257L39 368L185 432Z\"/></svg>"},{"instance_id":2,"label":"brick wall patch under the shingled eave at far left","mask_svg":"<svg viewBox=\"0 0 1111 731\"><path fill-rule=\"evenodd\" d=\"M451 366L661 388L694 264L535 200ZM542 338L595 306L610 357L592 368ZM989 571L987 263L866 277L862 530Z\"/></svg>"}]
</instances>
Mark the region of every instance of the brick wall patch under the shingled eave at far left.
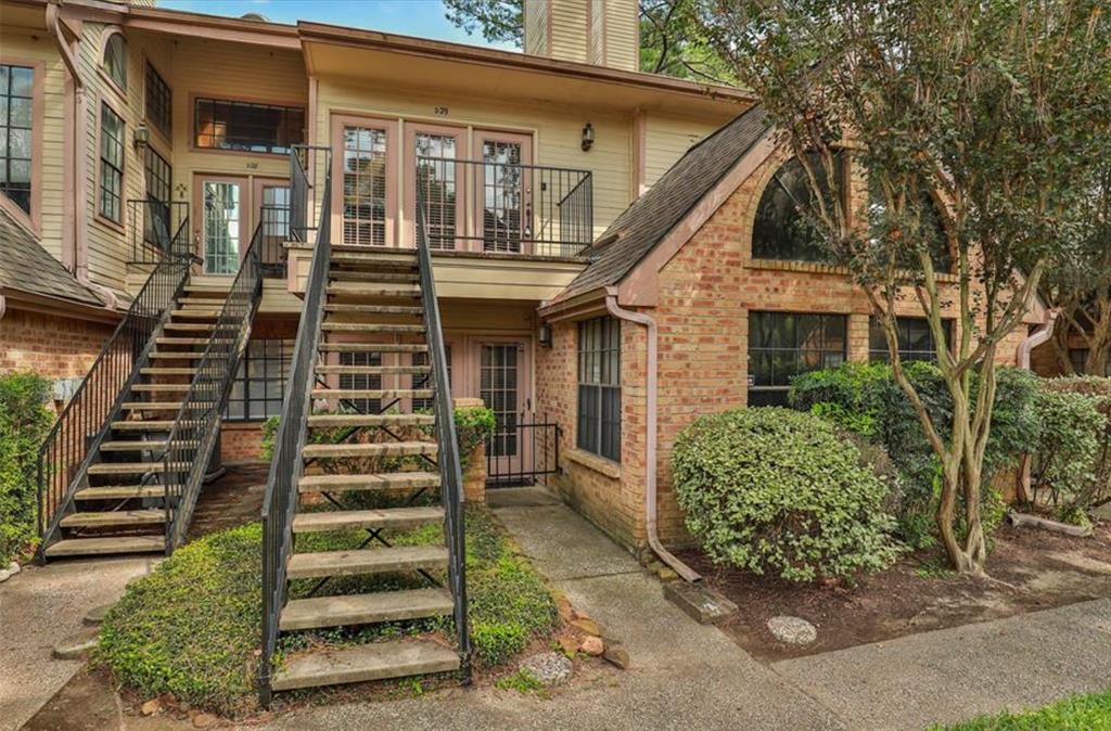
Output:
<instances>
[{"instance_id":1,"label":"brick wall patch under the shingled eave at far left","mask_svg":"<svg viewBox=\"0 0 1111 731\"><path fill-rule=\"evenodd\" d=\"M0 318L0 372L83 377L113 330L111 324L9 309Z\"/></svg>"}]
</instances>

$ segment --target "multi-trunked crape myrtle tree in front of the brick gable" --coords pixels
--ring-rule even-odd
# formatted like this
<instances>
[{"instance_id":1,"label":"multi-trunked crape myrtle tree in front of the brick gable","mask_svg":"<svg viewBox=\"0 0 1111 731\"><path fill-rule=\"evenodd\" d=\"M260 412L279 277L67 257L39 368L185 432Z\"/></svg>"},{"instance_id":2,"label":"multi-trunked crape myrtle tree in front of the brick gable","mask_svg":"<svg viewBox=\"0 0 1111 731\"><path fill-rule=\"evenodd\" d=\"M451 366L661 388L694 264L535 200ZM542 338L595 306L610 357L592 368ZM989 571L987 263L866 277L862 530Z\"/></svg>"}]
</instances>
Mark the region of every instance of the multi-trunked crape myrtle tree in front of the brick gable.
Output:
<instances>
[{"instance_id":1,"label":"multi-trunked crape myrtle tree in front of the brick gable","mask_svg":"<svg viewBox=\"0 0 1111 731\"><path fill-rule=\"evenodd\" d=\"M938 531L960 572L987 558L997 354L1070 240L1105 141L1104 2L703 0L708 38L805 169L800 209L882 322L940 464ZM952 272L931 256L939 230ZM899 358L904 298L929 321L951 414L931 415Z\"/></svg>"}]
</instances>

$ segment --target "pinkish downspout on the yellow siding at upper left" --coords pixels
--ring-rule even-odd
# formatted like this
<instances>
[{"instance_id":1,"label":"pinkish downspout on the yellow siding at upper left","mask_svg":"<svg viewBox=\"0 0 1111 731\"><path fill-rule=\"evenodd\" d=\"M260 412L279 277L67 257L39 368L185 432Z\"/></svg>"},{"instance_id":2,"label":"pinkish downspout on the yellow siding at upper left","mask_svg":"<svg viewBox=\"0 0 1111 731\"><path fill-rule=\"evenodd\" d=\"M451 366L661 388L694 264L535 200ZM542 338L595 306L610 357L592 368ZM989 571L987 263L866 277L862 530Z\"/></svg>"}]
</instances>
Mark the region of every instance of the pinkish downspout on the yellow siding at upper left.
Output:
<instances>
[{"instance_id":1,"label":"pinkish downspout on the yellow siding at upper left","mask_svg":"<svg viewBox=\"0 0 1111 731\"><path fill-rule=\"evenodd\" d=\"M99 293L104 298L104 307L109 310L114 310L117 307L116 292L112 290L101 287L100 284L91 281L89 279L89 252L88 252L88 237L87 232L87 221L88 221L88 203L84 199L84 187L88 182L88 161L86 157L86 144L88 143L88 138L86 134L88 126L88 107L86 100L86 84L81 79L81 73L78 69L77 59L73 57L73 49L70 48L69 41L66 40L66 30L62 28L61 19L61 6L58 2L50 2L47 4L47 17L46 17L47 30L53 36L54 44L58 47L58 53L62 57L62 62L66 64L66 71L69 74L70 89L67 89L67 96L72 94L72 103L70 104L70 113L72 114L73 123L69 126L67 130L72 134L66 140L67 152L70 156L68 163L66 166L66 177L67 177L67 192L68 201L67 204L70 208L71 214L66 217L66 224L69 227L67 237L72 241L72 250L70 251L70 262L73 267L73 273L77 280L88 287L90 290ZM63 257L64 258L64 257Z\"/></svg>"}]
</instances>

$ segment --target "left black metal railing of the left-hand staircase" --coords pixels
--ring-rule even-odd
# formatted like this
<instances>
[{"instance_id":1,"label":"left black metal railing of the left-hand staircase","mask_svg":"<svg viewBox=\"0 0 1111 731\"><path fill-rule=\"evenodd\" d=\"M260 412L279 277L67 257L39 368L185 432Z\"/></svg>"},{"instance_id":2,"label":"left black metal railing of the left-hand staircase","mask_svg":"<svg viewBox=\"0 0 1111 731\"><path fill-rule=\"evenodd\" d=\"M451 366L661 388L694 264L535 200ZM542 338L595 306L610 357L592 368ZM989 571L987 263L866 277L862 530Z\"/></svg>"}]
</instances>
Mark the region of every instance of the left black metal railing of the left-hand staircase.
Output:
<instances>
[{"instance_id":1,"label":"left black metal railing of the left-hand staircase","mask_svg":"<svg viewBox=\"0 0 1111 731\"><path fill-rule=\"evenodd\" d=\"M119 418L123 400L148 361L153 336L169 318L194 261L186 219L47 433L37 464L40 560L112 421Z\"/></svg>"}]
</instances>

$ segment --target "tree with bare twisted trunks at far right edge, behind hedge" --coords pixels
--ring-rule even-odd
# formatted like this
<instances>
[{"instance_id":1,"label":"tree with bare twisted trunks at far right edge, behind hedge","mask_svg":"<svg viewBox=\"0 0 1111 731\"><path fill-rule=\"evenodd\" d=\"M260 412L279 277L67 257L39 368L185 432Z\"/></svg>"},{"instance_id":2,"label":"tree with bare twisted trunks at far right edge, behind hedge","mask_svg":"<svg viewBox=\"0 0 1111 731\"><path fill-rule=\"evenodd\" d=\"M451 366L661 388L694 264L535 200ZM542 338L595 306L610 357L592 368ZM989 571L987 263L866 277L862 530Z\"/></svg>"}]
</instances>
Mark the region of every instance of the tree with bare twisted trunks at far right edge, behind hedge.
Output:
<instances>
[{"instance_id":1,"label":"tree with bare twisted trunks at far right edge, behind hedge","mask_svg":"<svg viewBox=\"0 0 1111 731\"><path fill-rule=\"evenodd\" d=\"M1111 153L1075 210L1072 237L1044 277L1042 297L1061 312L1053 351L1062 372L1107 375L1111 367ZM1073 360L1072 351L1082 359Z\"/></svg>"}]
</instances>

